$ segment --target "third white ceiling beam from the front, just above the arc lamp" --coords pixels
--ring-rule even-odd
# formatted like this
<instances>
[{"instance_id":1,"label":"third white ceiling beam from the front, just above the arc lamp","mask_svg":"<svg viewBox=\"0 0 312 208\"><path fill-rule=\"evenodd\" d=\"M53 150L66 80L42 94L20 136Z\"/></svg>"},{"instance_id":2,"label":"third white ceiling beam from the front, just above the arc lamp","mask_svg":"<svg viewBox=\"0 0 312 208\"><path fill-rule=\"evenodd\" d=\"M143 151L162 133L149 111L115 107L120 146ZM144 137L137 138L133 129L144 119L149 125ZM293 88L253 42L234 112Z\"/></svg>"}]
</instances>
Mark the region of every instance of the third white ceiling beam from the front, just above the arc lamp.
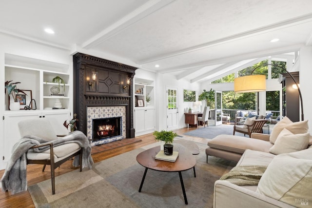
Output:
<instances>
[{"instance_id":1,"label":"third white ceiling beam from the front, just above the arc lamp","mask_svg":"<svg viewBox=\"0 0 312 208\"><path fill-rule=\"evenodd\" d=\"M248 59L256 59L258 57L273 56L273 55L298 51L302 46L304 46L304 44L295 44L295 45L289 45L286 47L273 48L267 51L258 51L254 53L248 53L248 54L239 54L237 56L224 57L224 58L205 61L205 62L190 63L190 64L185 64L183 66L176 66L172 68L162 69L162 70L159 70L158 72L170 73L170 72L176 72L176 71L184 71L186 69L192 69L192 68L203 68L205 66L224 64L228 62L239 62L239 61L248 60Z\"/></svg>"}]
</instances>

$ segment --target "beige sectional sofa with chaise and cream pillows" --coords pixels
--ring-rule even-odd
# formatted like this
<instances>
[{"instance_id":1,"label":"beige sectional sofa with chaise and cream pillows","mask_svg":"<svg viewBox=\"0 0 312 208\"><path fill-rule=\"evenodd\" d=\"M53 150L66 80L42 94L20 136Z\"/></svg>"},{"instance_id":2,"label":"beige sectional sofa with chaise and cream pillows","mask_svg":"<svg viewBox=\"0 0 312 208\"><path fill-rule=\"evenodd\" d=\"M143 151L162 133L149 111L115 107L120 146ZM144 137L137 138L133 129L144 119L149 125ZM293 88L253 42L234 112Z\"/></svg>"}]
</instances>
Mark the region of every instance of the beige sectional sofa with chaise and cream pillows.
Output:
<instances>
[{"instance_id":1,"label":"beige sectional sofa with chaise and cream pillows","mask_svg":"<svg viewBox=\"0 0 312 208\"><path fill-rule=\"evenodd\" d=\"M254 133L252 138L219 135L208 142L207 162L208 156L216 156L237 161L232 170L266 168L257 185L217 180L214 208L312 206L312 139L307 133L308 124L292 123L285 118L271 135Z\"/></svg>"}]
</instances>

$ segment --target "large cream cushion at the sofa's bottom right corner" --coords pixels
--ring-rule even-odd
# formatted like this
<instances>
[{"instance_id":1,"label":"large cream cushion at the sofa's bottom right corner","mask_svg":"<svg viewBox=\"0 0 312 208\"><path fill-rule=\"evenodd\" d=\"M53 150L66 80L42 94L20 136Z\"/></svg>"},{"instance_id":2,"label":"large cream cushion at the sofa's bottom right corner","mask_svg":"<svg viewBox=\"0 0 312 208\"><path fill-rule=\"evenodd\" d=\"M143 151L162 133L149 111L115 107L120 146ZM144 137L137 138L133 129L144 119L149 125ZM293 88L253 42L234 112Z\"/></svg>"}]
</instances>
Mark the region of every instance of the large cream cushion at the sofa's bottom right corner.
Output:
<instances>
[{"instance_id":1,"label":"large cream cushion at the sofa's bottom right corner","mask_svg":"<svg viewBox=\"0 0 312 208\"><path fill-rule=\"evenodd\" d=\"M311 148L280 154L273 158L264 172L256 192L301 207L302 201L312 202L311 179Z\"/></svg>"}]
</instances>

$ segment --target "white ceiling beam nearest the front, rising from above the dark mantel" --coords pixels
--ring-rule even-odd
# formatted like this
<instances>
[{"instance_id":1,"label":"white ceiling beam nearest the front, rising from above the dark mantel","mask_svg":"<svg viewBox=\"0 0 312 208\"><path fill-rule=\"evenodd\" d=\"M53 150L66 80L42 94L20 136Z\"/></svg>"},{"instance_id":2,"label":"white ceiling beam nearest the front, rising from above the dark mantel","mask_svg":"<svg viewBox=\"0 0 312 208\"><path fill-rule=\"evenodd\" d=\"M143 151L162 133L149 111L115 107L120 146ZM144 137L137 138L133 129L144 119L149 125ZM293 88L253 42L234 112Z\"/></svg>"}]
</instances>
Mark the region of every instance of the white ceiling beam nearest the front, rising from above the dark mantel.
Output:
<instances>
[{"instance_id":1,"label":"white ceiling beam nearest the front, rising from above the dark mantel","mask_svg":"<svg viewBox=\"0 0 312 208\"><path fill-rule=\"evenodd\" d=\"M104 42L108 38L116 35L117 33L121 32L122 30L126 29L127 27L133 25L137 21L142 20L143 18L149 16L150 14L156 12L157 10L161 9L162 7L167 6L168 4L172 3L175 0L149 0L147 3L143 4L141 7L137 8L130 14L124 16L119 21L113 23L109 27L102 30L97 35L93 36L86 42L81 44L82 48L90 49L101 42Z\"/></svg>"}]
</instances>

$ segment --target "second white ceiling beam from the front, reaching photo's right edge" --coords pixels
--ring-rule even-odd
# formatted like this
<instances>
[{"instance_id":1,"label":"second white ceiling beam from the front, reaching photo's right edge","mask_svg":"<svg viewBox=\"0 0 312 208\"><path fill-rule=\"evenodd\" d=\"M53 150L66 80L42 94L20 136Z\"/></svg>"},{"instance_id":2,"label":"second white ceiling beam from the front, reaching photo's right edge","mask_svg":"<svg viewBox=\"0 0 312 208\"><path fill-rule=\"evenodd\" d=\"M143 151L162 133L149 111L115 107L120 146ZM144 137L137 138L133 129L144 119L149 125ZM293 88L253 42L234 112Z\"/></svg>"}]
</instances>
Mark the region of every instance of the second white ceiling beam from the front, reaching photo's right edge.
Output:
<instances>
[{"instance_id":1,"label":"second white ceiling beam from the front, reaching photo's right edge","mask_svg":"<svg viewBox=\"0 0 312 208\"><path fill-rule=\"evenodd\" d=\"M211 41L211 42L206 42L206 43L203 43L203 44L192 46L192 47L189 47L189 48L186 48L186 49L183 49L183 50L175 51L175 52L172 52L172 53L167 53L167 54L164 54L164 55L161 55L161 56L157 56L157 57L153 57L153 58L150 58L150 59L141 60L141 61L138 61L137 64L141 65L141 64L146 64L146 63L150 63L150 62L156 62L156 61L160 61L160 60L163 60L163 59L179 56L179 55L182 55L182 54L186 54L186 53L191 53L191 52L194 52L194 51L202 50L202 49L205 49L205 48L208 48L208 47L212 47L212 46L215 46L215 45L224 44L224 43L227 43L227 42L232 42L234 40L245 39L245 38L257 35L257 34L267 33L269 31L273 31L273 30L276 30L276 29L279 29L279 28L289 27L292 24L297 24L299 22L307 21L307 20L310 20L310 19L312 19L312 13L307 14L307 15L303 15L303 16L299 16L299 17L296 17L296 18L292 18L292 19L289 19L289 20L286 20L286 21L280 21L280 22L277 22L277 23L273 23L273 24L270 24L270 25L263 26L263 27L255 28L253 30L245 31L245 32L238 33L238 34L235 34L235 35L232 35L232 36L228 36L228 37L224 37L224 38L221 38L221 39L217 39L217 40L214 40L214 41Z\"/></svg>"}]
</instances>

